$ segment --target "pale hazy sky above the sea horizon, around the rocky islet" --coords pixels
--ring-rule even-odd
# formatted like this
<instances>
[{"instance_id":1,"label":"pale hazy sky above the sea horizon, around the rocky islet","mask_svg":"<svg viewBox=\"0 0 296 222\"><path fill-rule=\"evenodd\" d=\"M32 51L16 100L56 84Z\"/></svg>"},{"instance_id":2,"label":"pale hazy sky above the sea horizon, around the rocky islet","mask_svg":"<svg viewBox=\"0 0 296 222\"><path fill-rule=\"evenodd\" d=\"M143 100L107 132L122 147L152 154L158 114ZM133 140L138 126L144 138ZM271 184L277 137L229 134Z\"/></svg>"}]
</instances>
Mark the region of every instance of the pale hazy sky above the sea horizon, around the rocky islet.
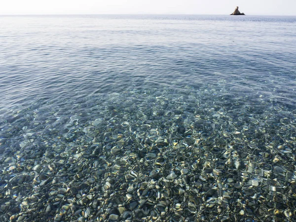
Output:
<instances>
[{"instance_id":1,"label":"pale hazy sky above the sea horizon, around the rocky islet","mask_svg":"<svg viewBox=\"0 0 296 222\"><path fill-rule=\"evenodd\" d=\"M0 0L3 14L296 15L296 0Z\"/></svg>"}]
</instances>

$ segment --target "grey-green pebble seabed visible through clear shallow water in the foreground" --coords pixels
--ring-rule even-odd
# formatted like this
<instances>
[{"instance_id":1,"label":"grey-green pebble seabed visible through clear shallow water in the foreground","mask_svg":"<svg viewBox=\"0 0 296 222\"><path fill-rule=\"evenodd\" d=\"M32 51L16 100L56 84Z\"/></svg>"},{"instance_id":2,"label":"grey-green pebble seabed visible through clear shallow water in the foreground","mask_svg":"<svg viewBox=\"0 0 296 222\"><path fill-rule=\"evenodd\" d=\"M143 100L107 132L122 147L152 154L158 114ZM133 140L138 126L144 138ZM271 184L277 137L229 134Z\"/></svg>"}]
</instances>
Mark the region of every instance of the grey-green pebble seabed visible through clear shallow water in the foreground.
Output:
<instances>
[{"instance_id":1,"label":"grey-green pebble seabed visible through clear shallow water in the foreground","mask_svg":"<svg viewBox=\"0 0 296 222\"><path fill-rule=\"evenodd\" d=\"M296 220L296 109L222 86L1 110L0 221Z\"/></svg>"}]
</instances>

